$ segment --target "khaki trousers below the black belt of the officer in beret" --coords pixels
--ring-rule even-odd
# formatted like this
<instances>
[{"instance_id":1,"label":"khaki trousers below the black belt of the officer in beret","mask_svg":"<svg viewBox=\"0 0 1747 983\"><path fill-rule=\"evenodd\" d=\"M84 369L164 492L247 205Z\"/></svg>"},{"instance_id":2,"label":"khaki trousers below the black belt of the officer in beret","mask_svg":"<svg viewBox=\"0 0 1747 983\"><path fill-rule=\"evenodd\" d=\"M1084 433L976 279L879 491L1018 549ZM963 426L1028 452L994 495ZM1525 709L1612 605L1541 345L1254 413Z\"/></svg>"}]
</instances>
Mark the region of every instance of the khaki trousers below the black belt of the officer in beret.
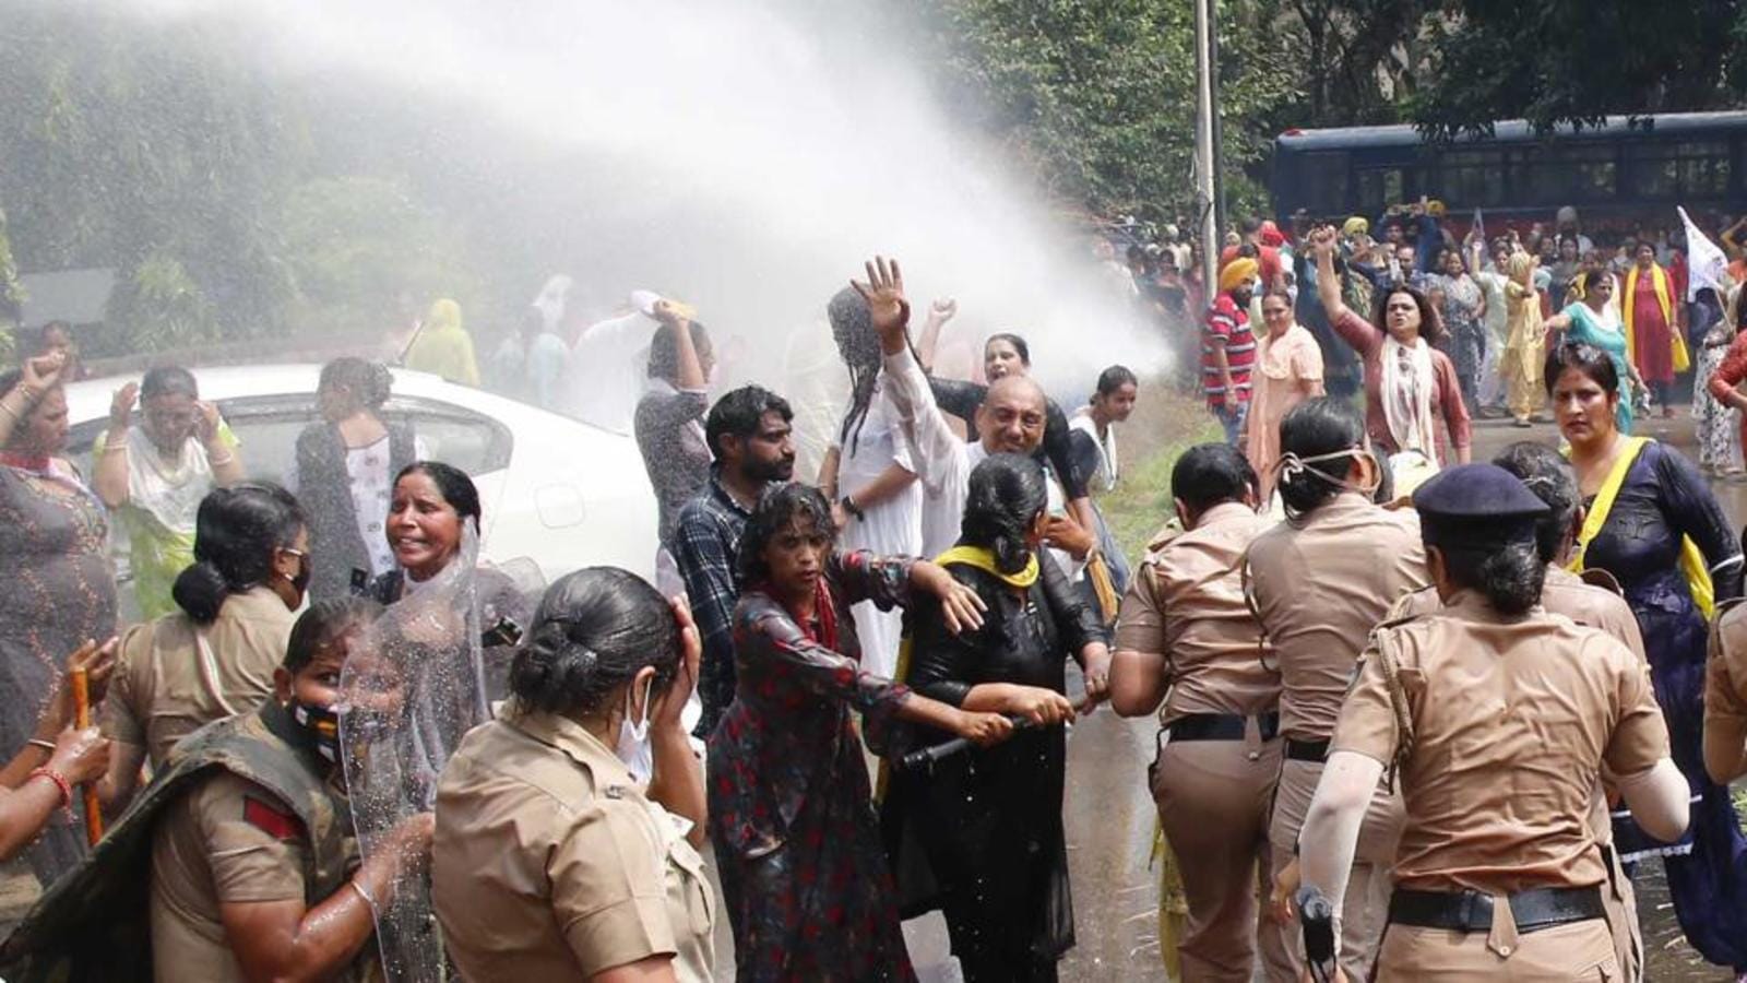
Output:
<instances>
[{"instance_id":1,"label":"khaki trousers below the black belt of the officer in beret","mask_svg":"<svg viewBox=\"0 0 1747 983\"><path fill-rule=\"evenodd\" d=\"M1607 922L1590 918L1516 934L1509 908L1494 910L1492 932L1448 932L1389 925L1377 955L1378 983L1614 983L1614 939Z\"/></svg>"}]
</instances>

